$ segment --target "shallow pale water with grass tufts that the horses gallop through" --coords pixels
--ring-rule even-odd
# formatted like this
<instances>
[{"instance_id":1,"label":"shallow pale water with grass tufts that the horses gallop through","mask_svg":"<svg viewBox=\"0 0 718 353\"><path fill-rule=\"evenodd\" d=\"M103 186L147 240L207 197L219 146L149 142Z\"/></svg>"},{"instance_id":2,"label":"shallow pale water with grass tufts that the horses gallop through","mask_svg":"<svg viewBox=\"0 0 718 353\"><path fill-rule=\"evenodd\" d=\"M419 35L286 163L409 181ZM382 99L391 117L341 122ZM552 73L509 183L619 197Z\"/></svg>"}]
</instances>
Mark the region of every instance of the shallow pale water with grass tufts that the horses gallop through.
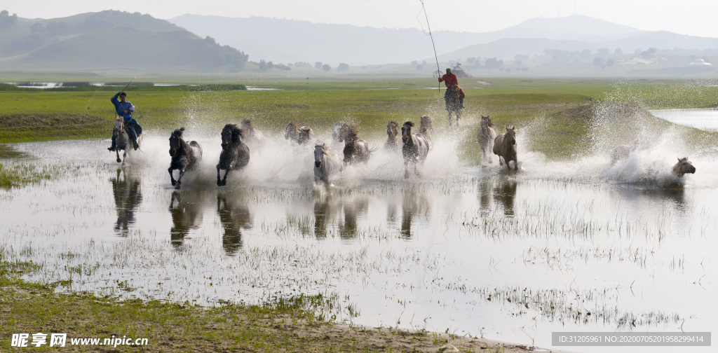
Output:
<instances>
[{"instance_id":1,"label":"shallow pale water with grass tufts that the horses gallop through","mask_svg":"<svg viewBox=\"0 0 718 353\"><path fill-rule=\"evenodd\" d=\"M327 190L312 184L312 149L268 134L219 188L220 141L185 137L204 159L180 191L165 136L146 136L124 168L108 141L14 145L37 158L4 164L55 178L0 190L0 246L45 265L33 280L71 278L75 291L203 305L326 293L355 324L546 348L551 331L718 329L711 150L693 151L696 174L679 182L675 143L613 167L520 145L513 172L467 166L457 138L434 137L421 177L405 181L401 156L380 150Z\"/></svg>"}]
</instances>

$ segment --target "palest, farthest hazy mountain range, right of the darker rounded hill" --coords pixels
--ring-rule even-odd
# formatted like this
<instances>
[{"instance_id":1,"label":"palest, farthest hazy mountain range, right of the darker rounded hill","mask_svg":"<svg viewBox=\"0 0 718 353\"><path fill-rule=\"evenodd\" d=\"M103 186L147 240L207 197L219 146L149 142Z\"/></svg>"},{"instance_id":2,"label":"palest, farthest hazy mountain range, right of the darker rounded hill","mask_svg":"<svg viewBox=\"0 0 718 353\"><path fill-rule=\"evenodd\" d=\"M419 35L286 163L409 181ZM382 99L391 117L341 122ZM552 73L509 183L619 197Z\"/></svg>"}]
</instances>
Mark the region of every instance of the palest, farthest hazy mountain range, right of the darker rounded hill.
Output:
<instances>
[{"instance_id":1,"label":"palest, farthest hazy mountain range, right of the darker rounded hill","mask_svg":"<svg viewBox=\"0 0 718 353\"><path fill-rule=\"evenodd\" d=\"M419 29L380 29L266 17L230 18L193 14L184 14L169 19L169 22L200 36L214 37L222 44L242 48L254 61L367 65L411 62L434 55L431 39ZM558 19L529 19L488 33L437 31L432 34L440 55L504 38L600 42L640 33L643 32L632 27L574 15Z\"/></svg>"}]
</instances>

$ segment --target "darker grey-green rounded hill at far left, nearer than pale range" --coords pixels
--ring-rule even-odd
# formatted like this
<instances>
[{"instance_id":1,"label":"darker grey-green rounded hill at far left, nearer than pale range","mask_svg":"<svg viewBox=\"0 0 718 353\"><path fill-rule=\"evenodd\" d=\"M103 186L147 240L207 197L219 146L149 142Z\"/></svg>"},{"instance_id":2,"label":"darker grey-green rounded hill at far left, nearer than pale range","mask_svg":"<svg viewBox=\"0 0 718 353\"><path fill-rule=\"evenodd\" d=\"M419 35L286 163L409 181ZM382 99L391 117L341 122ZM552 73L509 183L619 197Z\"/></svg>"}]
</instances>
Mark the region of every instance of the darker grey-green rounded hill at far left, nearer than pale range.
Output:
<instances>
[{"instance_id":1,"label":"darker grey-green rounded hill at far left, nearer than pale range","mask_svg":"<svg viewBox=\"0 0 718 353\"><path fill-rule=\"evenodd\" d=\"M243 52L147 14L18 19L0 29L0 70L236 71Z\"/></svg>"}]
</instances>

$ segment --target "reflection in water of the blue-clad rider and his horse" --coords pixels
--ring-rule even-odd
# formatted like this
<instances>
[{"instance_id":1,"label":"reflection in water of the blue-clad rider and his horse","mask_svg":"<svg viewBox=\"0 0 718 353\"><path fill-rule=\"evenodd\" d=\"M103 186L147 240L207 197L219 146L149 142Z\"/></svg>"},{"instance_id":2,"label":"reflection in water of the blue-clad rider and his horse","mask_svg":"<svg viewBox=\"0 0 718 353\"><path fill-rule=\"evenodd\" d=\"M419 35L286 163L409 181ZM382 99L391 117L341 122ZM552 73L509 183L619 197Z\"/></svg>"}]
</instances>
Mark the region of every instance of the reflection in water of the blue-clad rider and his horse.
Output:
<instances>
[{"instance_id":1,"label":"reflection in water of the blue-clad rider and his horse","mask_svg":"<svg viewBox=\"0 0 718 353\"><path fill-rule=\"evenodd\" d=\"M120 177L122 174L122 177ZM127 235L130 225L135 223L134 212L142 202L142 190L139 176L131 175L124 168L117 169L117 176L110 179L112 195L115 198L117 209L117 222L115 231L120 235Z\"/></svg>"}]
</instances>

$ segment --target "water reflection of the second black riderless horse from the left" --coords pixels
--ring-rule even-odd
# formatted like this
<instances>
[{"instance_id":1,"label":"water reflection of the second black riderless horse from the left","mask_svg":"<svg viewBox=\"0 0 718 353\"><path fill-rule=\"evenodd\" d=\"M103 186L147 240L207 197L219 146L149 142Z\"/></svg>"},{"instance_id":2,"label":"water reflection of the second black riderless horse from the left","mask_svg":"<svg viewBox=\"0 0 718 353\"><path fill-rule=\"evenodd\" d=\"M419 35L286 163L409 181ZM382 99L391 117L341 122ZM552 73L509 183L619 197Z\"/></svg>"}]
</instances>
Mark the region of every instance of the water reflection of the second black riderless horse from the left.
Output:
<instances>
[{"instance_id":1,"label":"water reflection of the second black riderless horse from the left","mask_svg":"<svg viewBox=\"0 0 718 353\"><path fill-rule=\"evenodd\" d=\"M236 198L233 198L236 200ZM217 214L224 228L222 247L227 255L235 255L242 248L242 228L252 227L252 216L245 203L228 202L227 195L217 195Z\"/></svg>"}]
</instances>

